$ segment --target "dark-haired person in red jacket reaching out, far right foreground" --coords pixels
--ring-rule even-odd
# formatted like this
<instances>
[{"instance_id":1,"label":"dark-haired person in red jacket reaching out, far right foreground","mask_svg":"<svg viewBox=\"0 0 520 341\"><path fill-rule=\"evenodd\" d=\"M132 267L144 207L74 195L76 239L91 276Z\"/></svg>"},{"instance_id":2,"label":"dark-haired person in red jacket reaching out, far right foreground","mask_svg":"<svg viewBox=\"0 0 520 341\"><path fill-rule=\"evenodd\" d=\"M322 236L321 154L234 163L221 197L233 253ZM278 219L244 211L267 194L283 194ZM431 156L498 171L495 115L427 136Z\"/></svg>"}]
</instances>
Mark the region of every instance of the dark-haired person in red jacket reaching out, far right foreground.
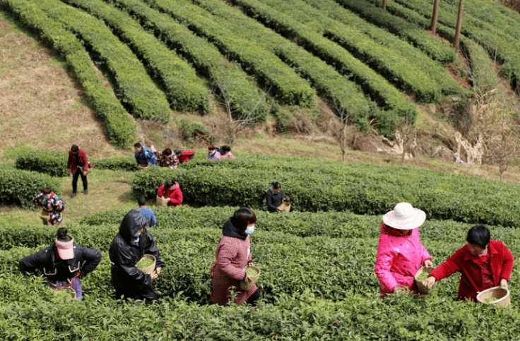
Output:
<instances>
[{"instance_id":1,"label":"dark-haired person in red jacket reaching out, far right foreground","mask_svg":"<svg viewBox=\"0 0 520 341\"><path fill-rule=\"evenodd\" d=\"M511 251L502 241L490 240L490 231L484 225L471 227L466 241L468 244L430 273L425 287L432 289L435 282L458 271L461 273L459 300L476 301L478 292L492 287L507 289L514 264Z\"/></svg>"}]
</instances>

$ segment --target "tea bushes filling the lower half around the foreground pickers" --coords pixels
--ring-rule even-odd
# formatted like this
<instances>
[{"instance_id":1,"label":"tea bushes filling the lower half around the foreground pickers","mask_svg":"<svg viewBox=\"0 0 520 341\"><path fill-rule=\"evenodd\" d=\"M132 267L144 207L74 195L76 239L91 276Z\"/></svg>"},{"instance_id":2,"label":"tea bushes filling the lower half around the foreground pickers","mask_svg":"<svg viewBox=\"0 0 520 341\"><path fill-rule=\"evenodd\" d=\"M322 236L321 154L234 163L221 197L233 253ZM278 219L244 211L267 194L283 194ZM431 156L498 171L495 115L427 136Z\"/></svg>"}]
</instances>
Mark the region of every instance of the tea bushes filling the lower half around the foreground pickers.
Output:
<instances>
[{"instance_id":1,"label":"tea bushes filling the lower half around the foreground pickers","mask_svg":"<svg viewBox=\"0 0 520 341\"><path fill-rule=\"evenodd\" d=\"M21 162L28 157L37 162L39 156L19 158L20 181L11 177L11 188L2 181L2 202L17 186L27 186L23 174L39 174L23 169L30 168L30 162ZM57 155L41 157L52 164ZM121 158L104 162L110 169L126 167ZM5 179L12 171L4 167L0 175ZM465 244L476 222L488 224L492 239L519 255L514 223L519 186L411 167L317 164L245 153L230 162L199 159L179 169L129 174L135 195L153 198L157 184L172 177L186 193L179 208L152 206L160 227L149 231L167 264L154 282L160 299L151 305L114 300L108 246L124 210L67 217L75 241L102 252L98 268L82 280L83 302L58 297L42 278L18 272L20 258L52 243L55 227L4 226L1 340L515 340L520 335L516 268L509 282L512 306L505 309L456 301L459 275L442 280L423 299L401 294L379 299L374 274L382 214L399 201L426 211L420 235L435 265ZM44 174L38 179L38 186L59 180ZM264 210L271 181L281 182L293 212ZM256 307L208 304L209 268L221 227L242 203L254 208L258 219L251 240L262 298Z\"/></svg>"}]
</instances>

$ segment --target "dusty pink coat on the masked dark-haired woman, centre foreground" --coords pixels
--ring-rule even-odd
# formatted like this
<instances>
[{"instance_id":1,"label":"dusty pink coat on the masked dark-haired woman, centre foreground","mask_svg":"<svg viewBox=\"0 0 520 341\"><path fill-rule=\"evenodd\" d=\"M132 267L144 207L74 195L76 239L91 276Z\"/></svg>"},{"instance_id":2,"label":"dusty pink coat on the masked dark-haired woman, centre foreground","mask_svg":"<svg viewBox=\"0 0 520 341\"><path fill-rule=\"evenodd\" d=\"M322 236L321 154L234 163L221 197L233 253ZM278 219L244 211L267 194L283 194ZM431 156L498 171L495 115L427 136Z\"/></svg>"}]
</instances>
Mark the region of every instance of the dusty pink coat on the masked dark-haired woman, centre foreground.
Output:
<instances>
[{"instance_id":1,"label":"dusty pink coat on the masked dark-haired woman, centre foreground","mask_svg":"<svg viewBox=\"0 0 520 341\"><path fill-rule=\"evenodd\" d=\"M251 243L249 235L240 234L237 228L228 220L223 229L223 237L218 243L217 263L213 269L213 287L210 301L218 304L228 304L230 299L230 287L235 287L235 303L242 304L254 292L256 285L244 292L240 289L240 281L244 280L246 272L244 268L252 261Z\"/></svg>"}]
</instances>

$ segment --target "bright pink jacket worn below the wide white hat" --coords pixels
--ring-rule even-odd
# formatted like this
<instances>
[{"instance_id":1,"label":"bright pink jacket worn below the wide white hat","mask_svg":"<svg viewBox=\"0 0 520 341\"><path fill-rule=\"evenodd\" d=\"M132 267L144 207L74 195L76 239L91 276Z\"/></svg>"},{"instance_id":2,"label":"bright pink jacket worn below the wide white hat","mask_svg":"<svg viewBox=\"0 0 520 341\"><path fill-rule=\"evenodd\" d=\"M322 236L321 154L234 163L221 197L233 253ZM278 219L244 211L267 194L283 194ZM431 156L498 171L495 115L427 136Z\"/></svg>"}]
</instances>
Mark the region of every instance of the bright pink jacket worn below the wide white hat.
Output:
<instances>
[{"instance_id":1,"label":"bright pink jacket worn below the wide white hat","mask_svg":"<svg viewBox=\"0 0 520 341\"><path fill-rule=\"evenodd\" d=\"M426 260L432 259L420 243L419 229L413 229L410 236L396 237L387 234L383 226L374 266L379 291L383 296L394 292L395 287L408 287L418 292L413 276Z\"/></svg>"}]
</instances>

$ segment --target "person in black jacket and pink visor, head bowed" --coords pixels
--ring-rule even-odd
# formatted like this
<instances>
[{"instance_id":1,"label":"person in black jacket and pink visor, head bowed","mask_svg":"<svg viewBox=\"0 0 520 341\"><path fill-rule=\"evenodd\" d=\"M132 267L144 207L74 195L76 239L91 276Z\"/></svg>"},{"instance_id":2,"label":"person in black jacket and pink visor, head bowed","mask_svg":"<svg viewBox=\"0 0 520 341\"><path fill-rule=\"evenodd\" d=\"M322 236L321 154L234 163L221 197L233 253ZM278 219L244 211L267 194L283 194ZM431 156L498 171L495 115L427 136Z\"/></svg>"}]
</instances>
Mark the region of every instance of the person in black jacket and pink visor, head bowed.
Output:
<instances>
[{"instance_id":1,"label":"person in black jacket and pink visor, head bowed","mask_svg":"<svg viewBox=\"0 0 520 341\"><path fill-rule=\"evenodd\" d=\"M83 301L80 277L85 277L101 261L101 253L85 246L74 244L74 239L61 227L57 231L54 244L20 260L20 271L24 275L40 271L47 276L48 287L52 289L72 288L76 298Z\"/></svg>"}]
</instances>

